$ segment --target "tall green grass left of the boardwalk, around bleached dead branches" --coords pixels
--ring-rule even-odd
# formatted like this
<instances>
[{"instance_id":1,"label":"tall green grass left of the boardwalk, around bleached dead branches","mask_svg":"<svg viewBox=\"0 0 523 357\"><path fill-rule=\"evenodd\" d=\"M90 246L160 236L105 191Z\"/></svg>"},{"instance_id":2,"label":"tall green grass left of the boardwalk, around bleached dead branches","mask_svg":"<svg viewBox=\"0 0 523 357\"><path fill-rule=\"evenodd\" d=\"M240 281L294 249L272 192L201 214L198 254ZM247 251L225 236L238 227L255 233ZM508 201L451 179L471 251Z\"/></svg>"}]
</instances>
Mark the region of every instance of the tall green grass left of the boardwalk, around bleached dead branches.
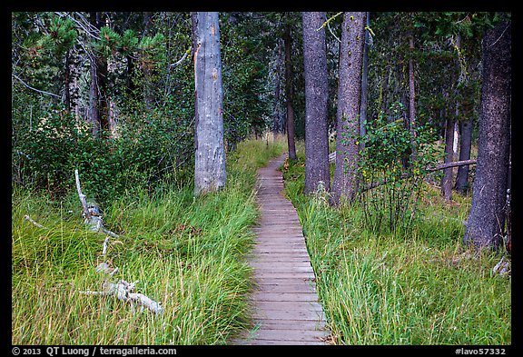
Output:
<instances>
[{"instance_id":1,"label":"tall green grass left of the boardwalk, around bleached dead branches","mask_svg":"<svg viewBox=\"0 0 523 357\"><path fill-rule=\"evenodd\" d=\"M283 142L246 141L227 157L227 183L198 198L192 185L155 193L130 190L103 207L111 238L88 232L74 189L62 202L44 193L12 193L13 344L224 344L249 323L256 169ZM25 221L29 214L45 228ZM138 291L164 312L136 310L101 291L101 262L119 271L108 278L139 281Z\"/></svg>"}]
</instances>

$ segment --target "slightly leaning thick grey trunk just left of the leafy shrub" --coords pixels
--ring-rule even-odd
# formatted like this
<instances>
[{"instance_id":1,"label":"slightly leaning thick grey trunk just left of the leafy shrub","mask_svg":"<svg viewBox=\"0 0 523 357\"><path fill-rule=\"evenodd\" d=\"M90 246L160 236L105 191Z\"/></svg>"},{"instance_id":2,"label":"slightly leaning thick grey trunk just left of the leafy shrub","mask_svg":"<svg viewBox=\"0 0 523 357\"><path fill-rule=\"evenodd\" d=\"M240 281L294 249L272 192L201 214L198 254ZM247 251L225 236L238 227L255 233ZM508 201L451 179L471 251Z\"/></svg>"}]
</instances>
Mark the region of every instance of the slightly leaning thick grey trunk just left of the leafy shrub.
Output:
<instances>
[{"instance_id":1,"label":"slightly leaning thick grey trunk just left of the leafy shrub","mask_svg":"<svg viewBox=\"0 0 523 357\"><path fill-rule=\"evenodd\" d=\"M360 134L361 63L365 38L365 13L345 13L341 25L340 83L336 120L336 169L331 203L352 201L356 193Z\"/></svg>"}]
</instances>

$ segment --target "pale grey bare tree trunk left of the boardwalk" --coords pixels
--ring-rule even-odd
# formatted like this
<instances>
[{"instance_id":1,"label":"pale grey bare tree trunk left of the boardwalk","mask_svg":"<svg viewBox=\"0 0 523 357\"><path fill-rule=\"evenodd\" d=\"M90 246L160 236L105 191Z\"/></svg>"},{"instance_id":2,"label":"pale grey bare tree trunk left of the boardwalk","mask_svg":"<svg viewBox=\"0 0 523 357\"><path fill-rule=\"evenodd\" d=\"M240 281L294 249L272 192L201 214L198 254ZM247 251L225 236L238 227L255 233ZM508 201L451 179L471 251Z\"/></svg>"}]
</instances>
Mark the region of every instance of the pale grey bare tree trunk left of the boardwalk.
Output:
<instances>
[{"instance_id":1,"label":"pale grey bare tree trunk left of the boardwalk","mask_svg":"<svg viewBox=\"0 0 523 357\"><path fill-rule=\"evenodd\" d=\"M192 13L195 85L194 193L225 185L223 88L218 13Z\"/></svg>"}]
</instances>

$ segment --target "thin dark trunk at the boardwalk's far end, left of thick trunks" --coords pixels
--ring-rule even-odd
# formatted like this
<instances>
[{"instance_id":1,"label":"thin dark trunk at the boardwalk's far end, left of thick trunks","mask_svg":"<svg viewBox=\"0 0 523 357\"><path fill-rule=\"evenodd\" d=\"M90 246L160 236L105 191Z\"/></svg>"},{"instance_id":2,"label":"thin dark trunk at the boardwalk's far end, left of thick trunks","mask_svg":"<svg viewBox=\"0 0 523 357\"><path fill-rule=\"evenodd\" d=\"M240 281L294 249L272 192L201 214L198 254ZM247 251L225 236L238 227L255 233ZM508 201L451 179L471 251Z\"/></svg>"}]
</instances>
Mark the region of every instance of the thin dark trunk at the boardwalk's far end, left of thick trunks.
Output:
<instances>
[{"instance_id":1,"label":"thin dark trunk at the boardwalk's far end, left of thick trunks","mask_svg":"<svg viewBox=\"0 0 523 357\"><path fill-rule=\"evenodd\" d=\"M296 160L296 144L294 144L294 87L291 63L291 26L287 25L283 35L285 46L285 96L287 106L287 145L289 148L289 159Z\"/></svg>"}]
</instances>

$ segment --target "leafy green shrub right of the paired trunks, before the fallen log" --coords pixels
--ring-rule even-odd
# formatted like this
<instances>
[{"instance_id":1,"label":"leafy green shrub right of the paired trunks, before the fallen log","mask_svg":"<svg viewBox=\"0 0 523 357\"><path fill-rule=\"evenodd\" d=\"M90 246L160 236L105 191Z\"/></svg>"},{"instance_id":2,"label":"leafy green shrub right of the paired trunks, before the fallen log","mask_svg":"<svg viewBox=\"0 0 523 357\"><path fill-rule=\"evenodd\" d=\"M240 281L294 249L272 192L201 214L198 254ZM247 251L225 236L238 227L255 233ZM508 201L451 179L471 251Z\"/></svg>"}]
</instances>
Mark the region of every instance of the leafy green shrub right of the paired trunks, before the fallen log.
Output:
<instances>
[{"instance_id":1,"label":"leafy green shrub right of the paired trunks, before the fallen log","mask_svg":"<svg viewBox=\"0 0 523 357\"><path fill-rule=\"evenodd\" d=\"M412 226L420 183L439 156L429 125L417 126L413 134L400 116L401 104L394 104L390 114L388 118L381 114L367 124L365 135L352 140L364 144L358 170L366 226L373 232L385 229L402 234Z\"/></svg>"}]
</instances>

